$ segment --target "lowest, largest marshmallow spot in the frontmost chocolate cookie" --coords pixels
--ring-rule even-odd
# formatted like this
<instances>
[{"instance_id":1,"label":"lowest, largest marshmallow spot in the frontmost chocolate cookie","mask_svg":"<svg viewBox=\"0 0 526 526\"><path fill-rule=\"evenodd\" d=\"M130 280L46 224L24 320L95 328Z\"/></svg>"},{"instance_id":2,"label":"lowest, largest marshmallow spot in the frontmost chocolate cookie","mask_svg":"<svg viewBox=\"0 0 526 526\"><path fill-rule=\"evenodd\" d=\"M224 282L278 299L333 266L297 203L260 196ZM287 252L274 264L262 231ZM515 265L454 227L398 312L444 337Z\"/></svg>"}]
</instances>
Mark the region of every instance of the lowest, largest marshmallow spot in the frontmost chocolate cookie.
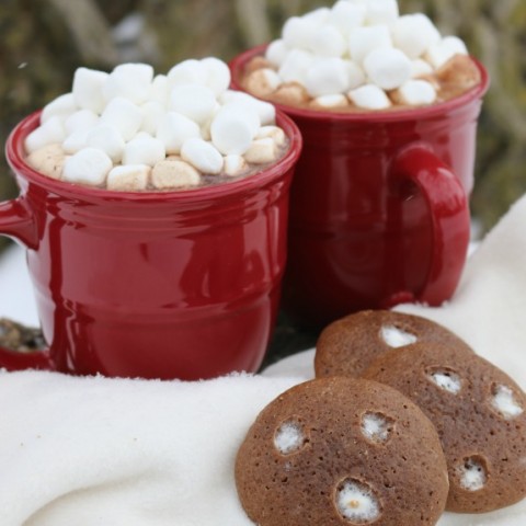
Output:
<instances>
[{"instance_id":1,"label":"lowest, largest marshmallow spot in the frontmost chocolate cookie","mask_svg":"<svg viewBox=\"0 0 526 526\"><path fill-rule=\"evenodd\" d=\"M374 523L381 515L381 505L374 491L364 482L347 479L336 492L336 510L355 524Z\"/></svg>"}]
</instances>

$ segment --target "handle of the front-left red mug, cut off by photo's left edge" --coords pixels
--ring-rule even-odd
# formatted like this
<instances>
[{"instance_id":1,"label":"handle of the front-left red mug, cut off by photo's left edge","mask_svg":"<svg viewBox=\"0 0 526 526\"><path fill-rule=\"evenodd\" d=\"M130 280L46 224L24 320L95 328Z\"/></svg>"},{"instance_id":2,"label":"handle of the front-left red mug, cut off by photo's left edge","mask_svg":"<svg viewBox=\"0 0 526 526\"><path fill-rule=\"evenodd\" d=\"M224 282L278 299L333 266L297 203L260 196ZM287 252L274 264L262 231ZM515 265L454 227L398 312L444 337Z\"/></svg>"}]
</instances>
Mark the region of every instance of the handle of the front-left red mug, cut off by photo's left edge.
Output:
<instances>
[{"instance_id":1,"label":"handle of the front-left red mug, cut off by photo's left edge","mask_svg":"<svg viewBox=\"0 0 526 526\"><path fill-rule=\"evenodd\" d=\"M0 235L14 238L26 247L36 247L36 232L32 214L22 197L0 203ZM0 347L0 368L7 370L53 370L47 351L21 353Z\"/></svg>"}]
</instances>

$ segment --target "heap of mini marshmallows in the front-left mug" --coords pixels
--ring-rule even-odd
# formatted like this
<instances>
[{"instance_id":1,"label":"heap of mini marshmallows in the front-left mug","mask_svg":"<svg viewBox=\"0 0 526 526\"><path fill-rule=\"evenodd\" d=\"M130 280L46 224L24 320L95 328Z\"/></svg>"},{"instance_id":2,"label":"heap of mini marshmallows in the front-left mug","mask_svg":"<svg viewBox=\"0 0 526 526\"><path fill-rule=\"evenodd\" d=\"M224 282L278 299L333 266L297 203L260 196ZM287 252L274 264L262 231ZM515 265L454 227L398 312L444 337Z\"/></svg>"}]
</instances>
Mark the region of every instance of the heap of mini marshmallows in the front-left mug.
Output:
<instances>
[{"instance_id":1,"label":"heap of mini marshmallows in the front-left mug","mask_svg":"<svg viewBox=\"0 0 526 526\"><path fill-rule=\"evenodd\" d=\"M156 77L146 64L111 73L79 68L72 91L47 104L27 136L27 163L55 179L122 191L244 175L275 161L287 138L272 104L229 85L228 66L214 57Z\"/></svg>"}]
</instances>

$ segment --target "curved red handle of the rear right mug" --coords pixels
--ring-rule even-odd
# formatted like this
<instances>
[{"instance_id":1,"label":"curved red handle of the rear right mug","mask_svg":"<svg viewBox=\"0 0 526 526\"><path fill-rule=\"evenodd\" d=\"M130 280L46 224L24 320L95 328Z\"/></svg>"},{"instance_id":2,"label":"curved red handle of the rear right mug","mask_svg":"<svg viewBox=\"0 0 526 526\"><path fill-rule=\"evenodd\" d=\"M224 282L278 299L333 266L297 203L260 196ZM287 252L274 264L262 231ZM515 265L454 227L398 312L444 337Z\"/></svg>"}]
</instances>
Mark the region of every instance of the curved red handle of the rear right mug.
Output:
<instances>
[{"instance_id":1,"label":"curved red handle of the rear right mug","mask_svg":"<svg viewBox=\"0 0 526 526\"><path fill-rule=\"evenodd\" d=\"M405 290L387 298L386 307L405 301L439 306L451 297L460 279L470 239L468 196L451 169L426 144L401 150L389 169L391 188L414 183L425 199L431 218L431 264L422 290Z\"/></svg>"}]
</instances>

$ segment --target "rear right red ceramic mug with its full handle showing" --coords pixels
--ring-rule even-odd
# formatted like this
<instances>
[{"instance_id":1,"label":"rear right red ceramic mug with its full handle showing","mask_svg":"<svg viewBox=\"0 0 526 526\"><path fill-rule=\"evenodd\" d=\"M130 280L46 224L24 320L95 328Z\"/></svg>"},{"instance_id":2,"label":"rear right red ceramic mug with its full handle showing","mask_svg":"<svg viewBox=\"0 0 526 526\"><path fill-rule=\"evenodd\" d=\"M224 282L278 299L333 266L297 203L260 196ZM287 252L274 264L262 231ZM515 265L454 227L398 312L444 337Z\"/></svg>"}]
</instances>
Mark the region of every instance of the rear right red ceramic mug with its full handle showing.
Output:
<instances>
[{"instance_id":1,"label":"rear right red ceramic mug with its full handle showing","mask_svg":"<svg viewBox=\"0 0 526 526\"><path fill-rule=\"evenodd\" d=\"M247 64L231 64L241 87ZM489 85L426 107L334 113L276 104L304 150L290 191L283 305L311 327L401 301L439 305L458 284L470 232L477 118Z\"/></svg>"}]
</instances>

